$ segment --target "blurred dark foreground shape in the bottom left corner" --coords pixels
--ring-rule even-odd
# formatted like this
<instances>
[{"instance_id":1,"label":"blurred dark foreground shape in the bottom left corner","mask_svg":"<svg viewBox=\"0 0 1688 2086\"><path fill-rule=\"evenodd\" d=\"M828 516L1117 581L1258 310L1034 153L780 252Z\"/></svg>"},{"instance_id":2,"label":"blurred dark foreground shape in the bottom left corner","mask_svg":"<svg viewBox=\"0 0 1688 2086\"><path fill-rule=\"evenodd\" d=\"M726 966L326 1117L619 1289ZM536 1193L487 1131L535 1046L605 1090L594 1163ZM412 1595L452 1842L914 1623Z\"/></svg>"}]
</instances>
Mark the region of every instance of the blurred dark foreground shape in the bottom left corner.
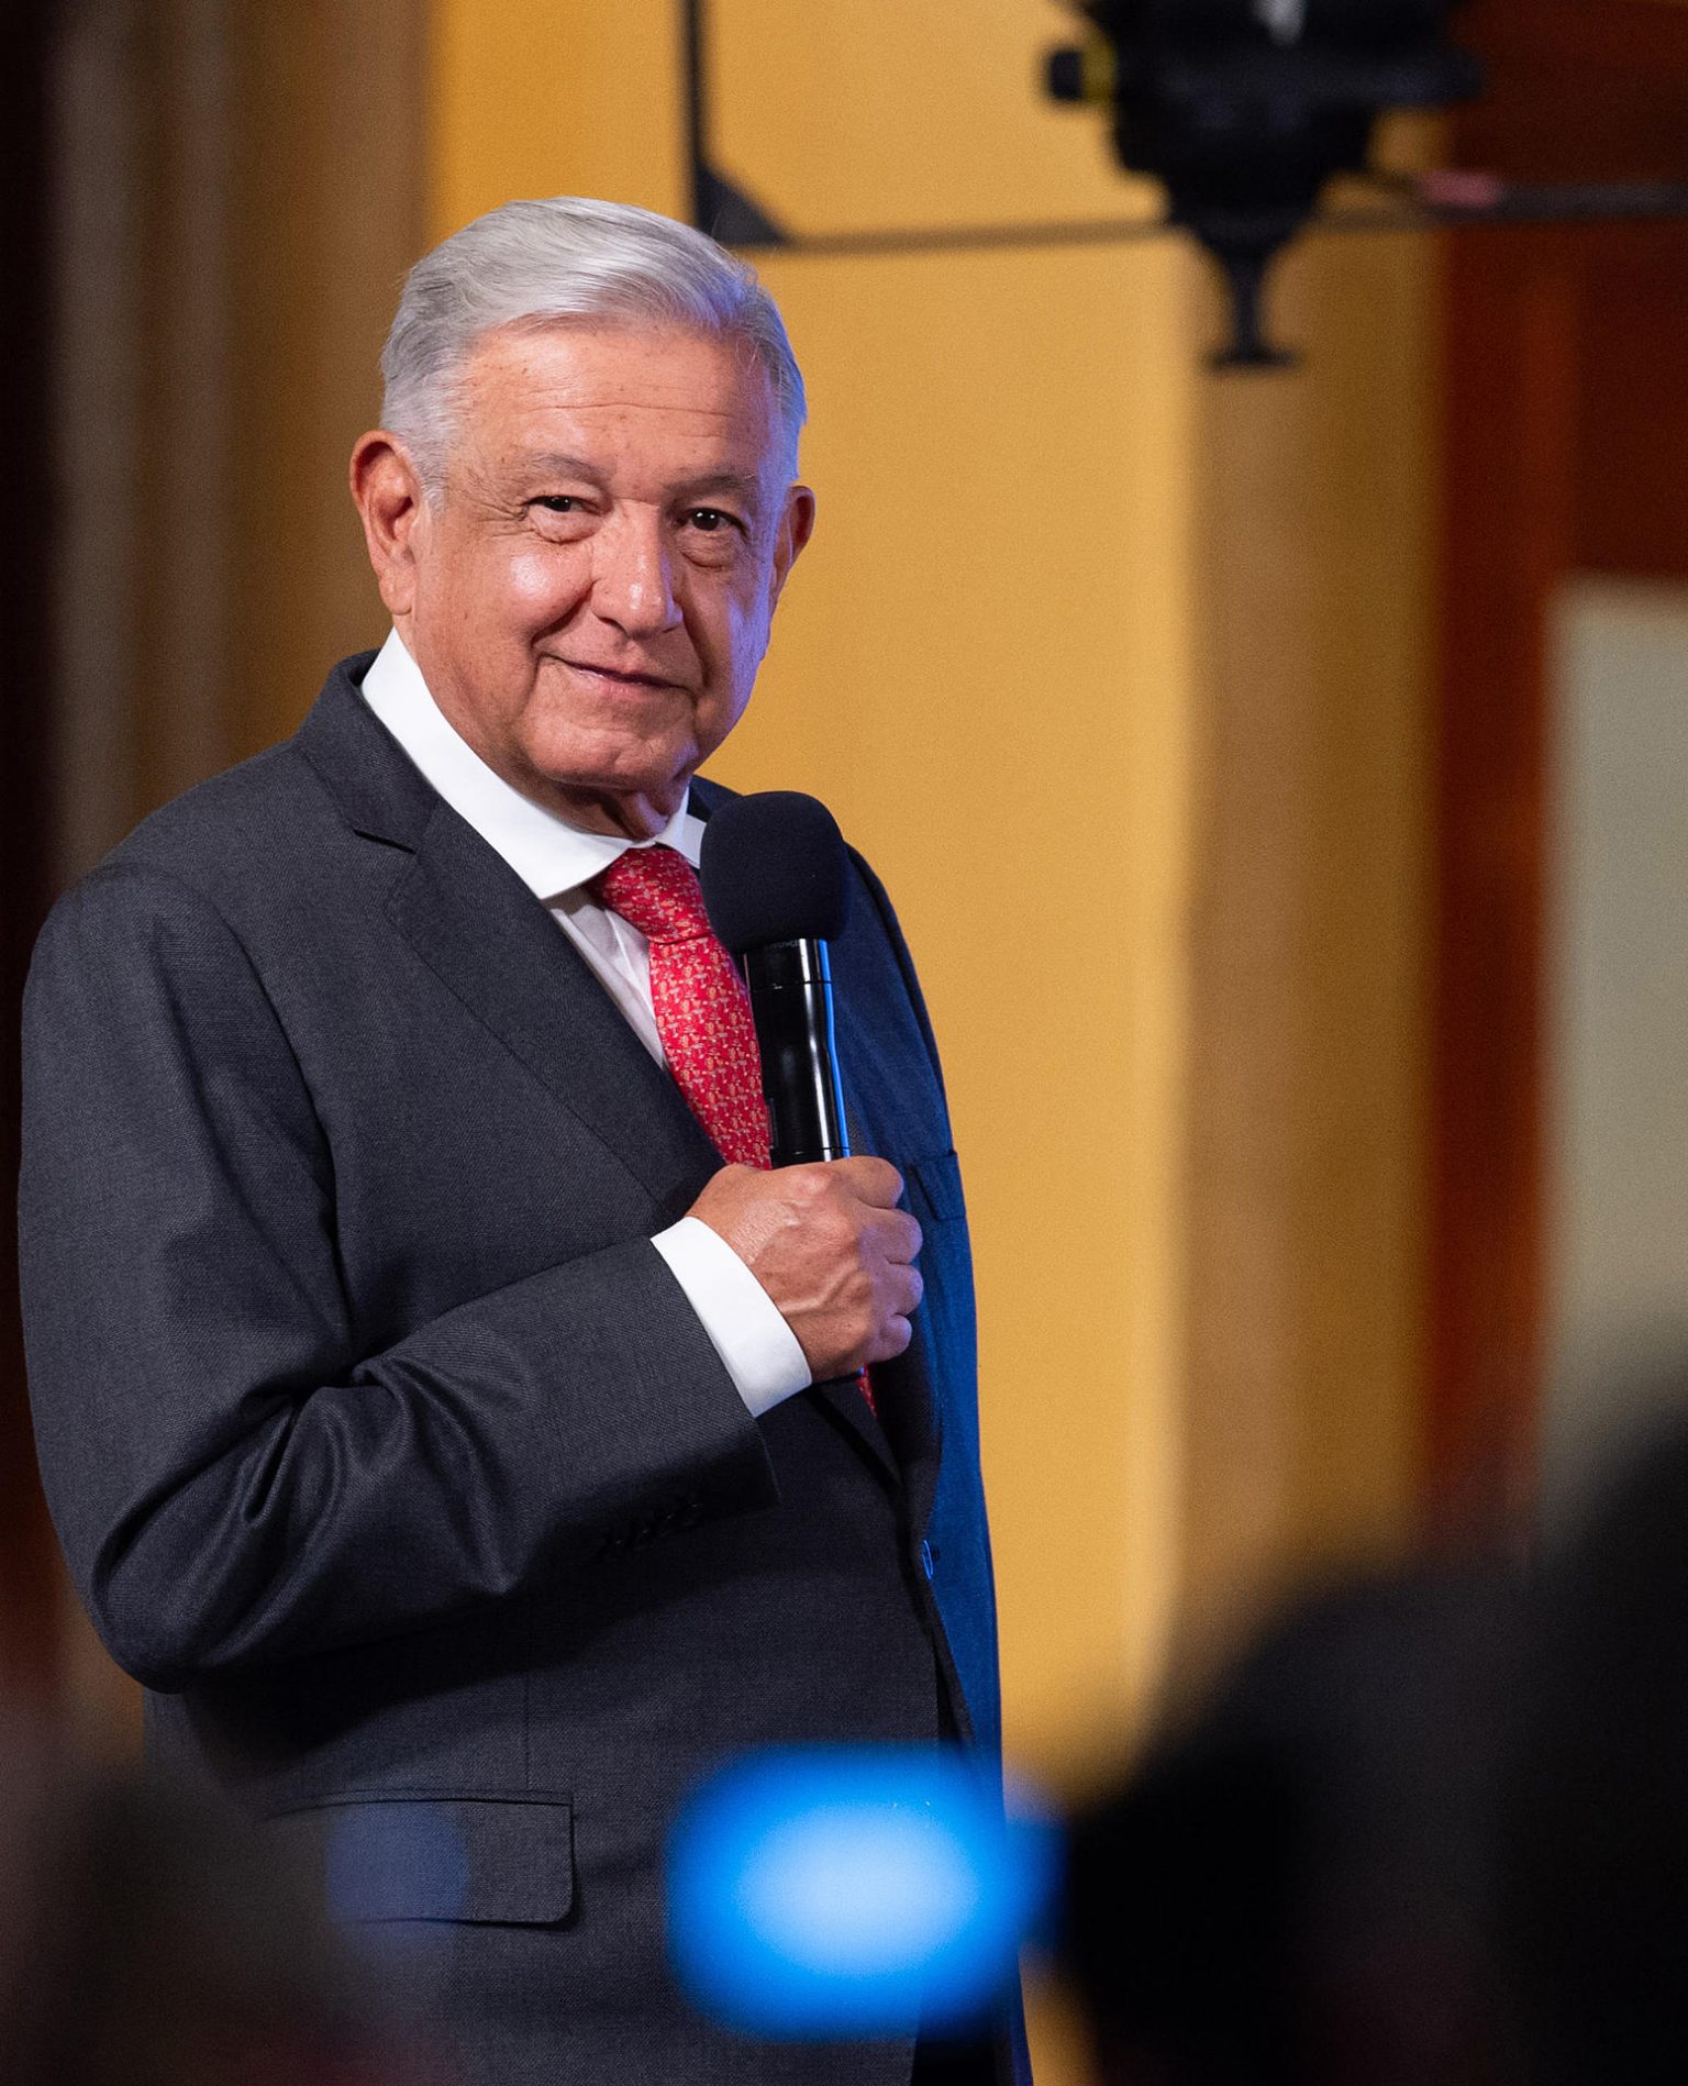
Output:
<instances>
[{"instance_id":1,"label":"blurred dark foreground shape in the bottom left corner","mask_svg":"<svg viewBox=\"0 0 1688 2086\"><path fill-rule=\"evenodd\" d=\"M257 1834L0 1731L4 2086L447 2086Z\"/></svg>"}]
</instances>

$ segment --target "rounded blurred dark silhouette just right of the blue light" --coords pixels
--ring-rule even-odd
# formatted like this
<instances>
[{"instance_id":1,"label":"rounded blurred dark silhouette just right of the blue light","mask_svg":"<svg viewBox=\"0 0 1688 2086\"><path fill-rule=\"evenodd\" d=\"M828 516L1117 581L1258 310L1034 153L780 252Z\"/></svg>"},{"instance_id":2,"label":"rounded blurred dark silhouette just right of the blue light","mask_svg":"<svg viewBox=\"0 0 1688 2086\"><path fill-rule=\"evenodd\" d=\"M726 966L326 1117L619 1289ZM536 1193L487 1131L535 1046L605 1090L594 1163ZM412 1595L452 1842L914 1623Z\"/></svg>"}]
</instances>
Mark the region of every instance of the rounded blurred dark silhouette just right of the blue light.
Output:
<instances>
[{"instance_id":1,"label":"rounded blurred dark silhouette just right of the blue light","mask_svg":"<svg viewBox=\"0 0 1688 2086\"><path fill-rule=\"evenodd\" d=\"M1492 1938L1504 1575L1321 1596L1075 1823L1066 1961L1110 2086L1517 2078Z\"/></svg>"}]
</instances>

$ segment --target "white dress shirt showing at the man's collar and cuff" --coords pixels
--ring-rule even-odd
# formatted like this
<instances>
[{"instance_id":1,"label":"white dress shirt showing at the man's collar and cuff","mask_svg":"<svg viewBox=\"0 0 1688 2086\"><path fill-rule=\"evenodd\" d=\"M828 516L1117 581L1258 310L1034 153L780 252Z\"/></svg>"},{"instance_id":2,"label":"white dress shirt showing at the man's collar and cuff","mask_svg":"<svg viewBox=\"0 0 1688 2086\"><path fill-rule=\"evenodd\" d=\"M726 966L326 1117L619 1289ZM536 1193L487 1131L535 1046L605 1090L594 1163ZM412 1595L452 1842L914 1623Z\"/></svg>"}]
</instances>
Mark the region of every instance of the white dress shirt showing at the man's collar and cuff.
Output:
<instances>
[{"instance_id":1,"label":"white dress shirt showing at the man's collar and cuff","mask_svg":"<svg viewBox=\"0 0 1688 2086\"><path fill-rule=\"evenodd\" d=\"M601 905L588 884L632 845L666 843L697 868L703 820L680 805L647 843L570 826L495 774L453 730L396 630L363 678L363 699L451 809L545 901L638 1041L666 1066L651 1005L651 945L620 914ZM807 1385L810 1364L797 1335L720 1233L682 1216L651 1245L684 1289L753 1414Z\"/></svg>"}]
</instances>

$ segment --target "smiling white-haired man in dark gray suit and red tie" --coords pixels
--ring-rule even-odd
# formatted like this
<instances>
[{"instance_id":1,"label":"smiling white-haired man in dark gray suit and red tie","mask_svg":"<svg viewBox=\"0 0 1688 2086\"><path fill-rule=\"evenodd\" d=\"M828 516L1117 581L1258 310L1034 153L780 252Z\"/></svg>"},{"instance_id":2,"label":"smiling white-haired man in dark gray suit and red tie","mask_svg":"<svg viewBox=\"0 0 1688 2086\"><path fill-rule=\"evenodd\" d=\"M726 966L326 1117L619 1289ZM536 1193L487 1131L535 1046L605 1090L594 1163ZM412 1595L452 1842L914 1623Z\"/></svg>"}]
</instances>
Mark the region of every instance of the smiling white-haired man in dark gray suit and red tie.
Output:
<instances>
[{"instance_id":1,"label":"smiling white-haired man in dark gray suit and red tie","mask_svg":"<svg viewBox=\"0 0 1688 2086\"><path fill-rule=\"evenodd\" d=\"M664 1963L664 1834L720 1761L997 1748L908 951L853 857L874 1156L770 1172L697 901L695 774L814 522L785 328L682 225L517 202L415 267L384 371L351 478L392 634L38 951L23 1279L75 1581L154 1756L411 1938L382 1961L463 2080L1024 2076L1012 2021L741 2040Z\"/></svg>"}]
</instances>

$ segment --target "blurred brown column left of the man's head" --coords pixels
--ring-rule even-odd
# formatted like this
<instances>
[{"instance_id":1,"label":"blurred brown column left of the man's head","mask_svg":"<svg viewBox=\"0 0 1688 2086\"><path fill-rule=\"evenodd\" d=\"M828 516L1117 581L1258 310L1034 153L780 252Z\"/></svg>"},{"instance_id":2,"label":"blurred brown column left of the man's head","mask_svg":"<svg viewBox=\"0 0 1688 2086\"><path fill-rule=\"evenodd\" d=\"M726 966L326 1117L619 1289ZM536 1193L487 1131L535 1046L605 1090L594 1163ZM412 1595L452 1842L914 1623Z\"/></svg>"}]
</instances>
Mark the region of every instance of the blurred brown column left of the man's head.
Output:
<instances>
[{"instance_id":1,"label":"blurred brown column left of the man's head","mask_svg":"<svg viewBox=\"0 0 1688 2086\"><path fill-rule=\"evenodd\" d=\"M426 27L424 0L65 10L65 876L380 634L342 480L421 244Z\"/></svg>"}]
</instances>

